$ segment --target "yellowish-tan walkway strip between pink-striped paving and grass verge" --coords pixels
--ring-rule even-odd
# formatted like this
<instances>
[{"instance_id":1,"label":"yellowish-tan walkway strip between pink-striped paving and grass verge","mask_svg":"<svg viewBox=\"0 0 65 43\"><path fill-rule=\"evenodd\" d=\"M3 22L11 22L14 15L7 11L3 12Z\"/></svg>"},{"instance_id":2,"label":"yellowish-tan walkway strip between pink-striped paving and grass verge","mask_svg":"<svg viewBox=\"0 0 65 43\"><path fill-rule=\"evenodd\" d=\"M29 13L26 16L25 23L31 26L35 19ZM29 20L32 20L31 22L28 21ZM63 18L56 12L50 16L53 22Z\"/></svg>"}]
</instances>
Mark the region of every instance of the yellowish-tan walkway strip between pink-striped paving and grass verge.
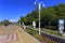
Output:
<instances>
[{"instance_id":1,"label":"yellowish-tan walkway strip between pink-striped paving and grass verge","mask_svg":"<svg viewBox=\"0 0 65 43\"><path fill-rule=\"evenodd\" d=\"M18 40L15 43L40 43L32 35L25 32L21 27L16 26Z\"/></svg>"}]
</instances>

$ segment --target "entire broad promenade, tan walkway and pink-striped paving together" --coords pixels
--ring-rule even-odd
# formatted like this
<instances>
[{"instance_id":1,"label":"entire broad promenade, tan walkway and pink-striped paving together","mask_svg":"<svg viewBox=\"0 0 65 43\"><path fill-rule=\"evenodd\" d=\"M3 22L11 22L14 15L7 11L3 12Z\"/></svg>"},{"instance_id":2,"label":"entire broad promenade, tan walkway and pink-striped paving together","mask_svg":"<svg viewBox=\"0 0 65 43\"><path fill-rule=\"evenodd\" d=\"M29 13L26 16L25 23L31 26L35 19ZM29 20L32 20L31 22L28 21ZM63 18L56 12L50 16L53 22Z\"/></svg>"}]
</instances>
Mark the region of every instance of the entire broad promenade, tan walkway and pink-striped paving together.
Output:
<instances>
[{"instance_id":1,"label":"entire broad promenade, tan walkway and pink-striped paving together","mask_svg":"<svg viewBox=\"0 0 65 43\"><path fill-rule=\"evenodd\" d=\"M0 39L0 43L40 43L32 35L15 25L10 25L8 27L0 26L0 35L1 34L3 34L3 39Z\"/></svg>"}]
</instances>

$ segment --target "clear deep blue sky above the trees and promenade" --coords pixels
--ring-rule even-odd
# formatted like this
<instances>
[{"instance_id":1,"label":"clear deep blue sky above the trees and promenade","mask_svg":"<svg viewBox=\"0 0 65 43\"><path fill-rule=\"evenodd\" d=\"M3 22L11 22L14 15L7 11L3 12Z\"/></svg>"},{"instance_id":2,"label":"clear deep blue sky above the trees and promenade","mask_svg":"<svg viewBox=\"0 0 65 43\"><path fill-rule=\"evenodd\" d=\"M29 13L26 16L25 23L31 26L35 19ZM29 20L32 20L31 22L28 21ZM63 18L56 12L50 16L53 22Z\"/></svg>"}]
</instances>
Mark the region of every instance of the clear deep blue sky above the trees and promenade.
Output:
<instances>
[{"instance_id":1,"label":"clear deep blue sky above the trees and promenade","mask_svg":"<svg viewBox=\"0 0 65 43\"><path fill-rule=\"evenodd\" d=\"M47 6L65 4L65 0L40 0ZM26 16L35 9L35 0L0 0L0 22L9 19L17 22L21 16Z\"/></svg>"}]
</instances>

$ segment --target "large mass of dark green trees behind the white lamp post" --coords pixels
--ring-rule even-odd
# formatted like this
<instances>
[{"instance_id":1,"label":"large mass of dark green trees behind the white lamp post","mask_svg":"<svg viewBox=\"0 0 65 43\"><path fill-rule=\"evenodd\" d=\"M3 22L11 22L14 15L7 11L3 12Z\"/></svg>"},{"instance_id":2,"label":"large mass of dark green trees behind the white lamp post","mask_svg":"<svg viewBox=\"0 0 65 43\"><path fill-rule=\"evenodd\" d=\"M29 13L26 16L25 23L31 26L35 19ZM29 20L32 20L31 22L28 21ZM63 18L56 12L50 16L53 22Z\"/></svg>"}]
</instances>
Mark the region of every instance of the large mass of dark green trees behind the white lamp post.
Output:
<instances>
[{"instance_id":1,"label":"large mass of dark green trees behind the white lamp post","mask_svg":"<svg viewBox=\"0 0 65 43\"><path fill-rule=\"evenodd\" d=\"M58 4L55 6L42 8L41 6L41 28L56 29L58 26L58 19L65 19L65 4ZM25 25L31 25L32 22L39 23L38 8L26 16L21 16L18 23L25 23Z\"/></svg>"}]
</instances>

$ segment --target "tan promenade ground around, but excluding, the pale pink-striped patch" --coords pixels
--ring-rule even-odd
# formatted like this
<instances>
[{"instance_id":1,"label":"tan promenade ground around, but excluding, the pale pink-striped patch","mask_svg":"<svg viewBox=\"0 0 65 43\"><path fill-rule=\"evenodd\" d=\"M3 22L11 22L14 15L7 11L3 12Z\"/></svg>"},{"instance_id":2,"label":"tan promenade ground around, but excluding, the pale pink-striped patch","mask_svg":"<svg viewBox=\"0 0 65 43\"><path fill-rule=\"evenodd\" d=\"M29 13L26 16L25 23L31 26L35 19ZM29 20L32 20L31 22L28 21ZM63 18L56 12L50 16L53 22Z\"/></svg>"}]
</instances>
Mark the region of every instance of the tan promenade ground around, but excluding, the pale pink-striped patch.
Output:
<instances>
[{"instance_id":1,"label":"tan promenade ground around, but excluding, the pale pink-striped patch","mask_svg":"<svg viewBox=\"0 0 65 43\"><path fill-rule=\"evenodd\" d=\"M10 25L8 27L0 26L0 34L10 33L16 33L16 35L14 34L13 37L16 37L17 40L10 41L8 43L40 43L37 39L25 32L21 27L16 25Z\"/></svg>"}]
</instances>

